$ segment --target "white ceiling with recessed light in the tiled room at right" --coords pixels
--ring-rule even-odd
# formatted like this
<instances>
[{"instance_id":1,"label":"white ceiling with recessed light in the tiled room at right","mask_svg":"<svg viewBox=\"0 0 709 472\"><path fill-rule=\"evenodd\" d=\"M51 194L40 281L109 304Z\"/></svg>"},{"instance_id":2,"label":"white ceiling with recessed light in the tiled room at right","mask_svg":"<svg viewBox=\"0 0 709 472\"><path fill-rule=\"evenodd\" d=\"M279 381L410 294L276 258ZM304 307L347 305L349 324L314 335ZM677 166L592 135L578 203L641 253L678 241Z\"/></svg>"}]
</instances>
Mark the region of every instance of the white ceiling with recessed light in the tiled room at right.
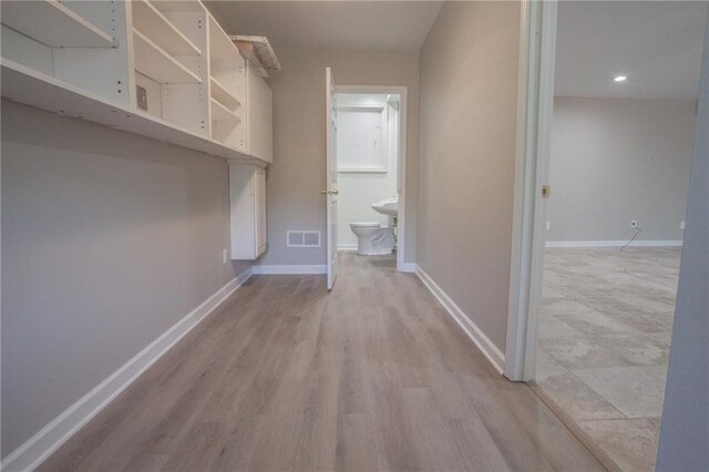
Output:
<instances>
[{"instance_id":1,"label":"white ceiling with recessed light in the tiled room at right","mask_svg":"<svg viewBox=\"0 0 709 472\"><path fill-rule=\"evenodd\" d=\"M556 95L696 98L707 4L561 2Z\"/></svg>"}]
</instances>

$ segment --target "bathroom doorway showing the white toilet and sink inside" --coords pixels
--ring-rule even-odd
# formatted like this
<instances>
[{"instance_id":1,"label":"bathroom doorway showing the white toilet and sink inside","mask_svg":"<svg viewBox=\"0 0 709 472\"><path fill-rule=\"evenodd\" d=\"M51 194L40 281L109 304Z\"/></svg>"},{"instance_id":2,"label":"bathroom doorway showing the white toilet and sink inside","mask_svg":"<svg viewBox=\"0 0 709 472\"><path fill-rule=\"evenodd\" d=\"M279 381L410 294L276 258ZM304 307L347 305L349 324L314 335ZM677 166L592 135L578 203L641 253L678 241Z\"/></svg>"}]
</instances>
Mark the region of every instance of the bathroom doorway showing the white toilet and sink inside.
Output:
<instances>
[{"instance_id":1,"label":"bathroom doorway showing the white toilet and sink inside","mask_svg":"<svg viewBox=\"0 0 709 472\"><path fill-rule=\"evenodd\" d=\"M405 88L336 89L338 252L403 267Z\"/></svg>"}]
</instances>

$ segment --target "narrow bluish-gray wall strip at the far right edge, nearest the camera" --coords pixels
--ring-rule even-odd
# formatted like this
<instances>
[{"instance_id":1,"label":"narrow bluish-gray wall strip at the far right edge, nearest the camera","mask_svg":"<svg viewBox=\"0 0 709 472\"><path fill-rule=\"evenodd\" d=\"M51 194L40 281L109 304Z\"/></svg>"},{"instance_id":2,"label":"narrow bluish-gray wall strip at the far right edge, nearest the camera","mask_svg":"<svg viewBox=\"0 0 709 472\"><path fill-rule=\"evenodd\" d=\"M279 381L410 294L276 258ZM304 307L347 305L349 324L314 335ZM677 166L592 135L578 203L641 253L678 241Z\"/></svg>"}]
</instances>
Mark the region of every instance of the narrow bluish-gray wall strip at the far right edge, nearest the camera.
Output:
<instances>
[{"instance_id":1,"label":"narrow bluish-gray wall strip at the far right edge, nearest the camera","mask_svg":"<svg viewBox=\"0 0 709 472\"><path fill-rule=\"evenodd\" d=\"M709 30L699 96L658 471L709 470Z\"/></svg>"}]
</instances>

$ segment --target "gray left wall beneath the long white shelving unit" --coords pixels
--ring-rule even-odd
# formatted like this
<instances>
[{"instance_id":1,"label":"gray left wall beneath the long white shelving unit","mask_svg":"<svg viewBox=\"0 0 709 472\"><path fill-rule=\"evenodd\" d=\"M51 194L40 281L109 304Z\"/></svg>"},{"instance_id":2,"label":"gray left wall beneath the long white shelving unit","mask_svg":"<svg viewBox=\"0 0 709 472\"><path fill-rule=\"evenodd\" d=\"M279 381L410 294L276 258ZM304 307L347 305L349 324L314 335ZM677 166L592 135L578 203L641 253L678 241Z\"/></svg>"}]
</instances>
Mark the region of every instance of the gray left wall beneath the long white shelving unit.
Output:
<instances>
[{"instance_id":1,"label":"gray left wall beneath the long white shelving unit","mask_svg":"<svg viewBox=\"0 0 709 472\"><path fill-rule=\"evenodd\" d=\"M225 161L3 101L2 454L232 280L228 239Z\"/></svg>"}]
</instances>

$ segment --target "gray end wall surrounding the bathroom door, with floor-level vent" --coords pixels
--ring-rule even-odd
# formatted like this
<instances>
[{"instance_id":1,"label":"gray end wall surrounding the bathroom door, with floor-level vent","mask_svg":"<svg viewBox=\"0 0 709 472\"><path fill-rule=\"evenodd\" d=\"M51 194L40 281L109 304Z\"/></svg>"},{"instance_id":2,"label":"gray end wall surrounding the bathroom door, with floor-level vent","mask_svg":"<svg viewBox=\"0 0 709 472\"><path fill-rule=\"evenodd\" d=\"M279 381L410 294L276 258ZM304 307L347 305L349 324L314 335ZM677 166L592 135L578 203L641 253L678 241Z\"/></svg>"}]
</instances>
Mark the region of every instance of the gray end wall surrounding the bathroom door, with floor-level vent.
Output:
<instances>
[{"instance_id":1,"label":"gray end wall surrounding the bathroom door, with floor-level vent","mask_svg":"<svg viewBox=\"0 0 709 472\"><path fill-rule=\"evenodd\" d=\"M415 51L279 50L274 91L274 164L267 176L268 250L263 265L321 265L320 248L287 248L286 230L319 229L325 242L325 68L342 85L405 85L407 242L413 261L419 179L419 54Z\"/></svg>"}]
</instances>

